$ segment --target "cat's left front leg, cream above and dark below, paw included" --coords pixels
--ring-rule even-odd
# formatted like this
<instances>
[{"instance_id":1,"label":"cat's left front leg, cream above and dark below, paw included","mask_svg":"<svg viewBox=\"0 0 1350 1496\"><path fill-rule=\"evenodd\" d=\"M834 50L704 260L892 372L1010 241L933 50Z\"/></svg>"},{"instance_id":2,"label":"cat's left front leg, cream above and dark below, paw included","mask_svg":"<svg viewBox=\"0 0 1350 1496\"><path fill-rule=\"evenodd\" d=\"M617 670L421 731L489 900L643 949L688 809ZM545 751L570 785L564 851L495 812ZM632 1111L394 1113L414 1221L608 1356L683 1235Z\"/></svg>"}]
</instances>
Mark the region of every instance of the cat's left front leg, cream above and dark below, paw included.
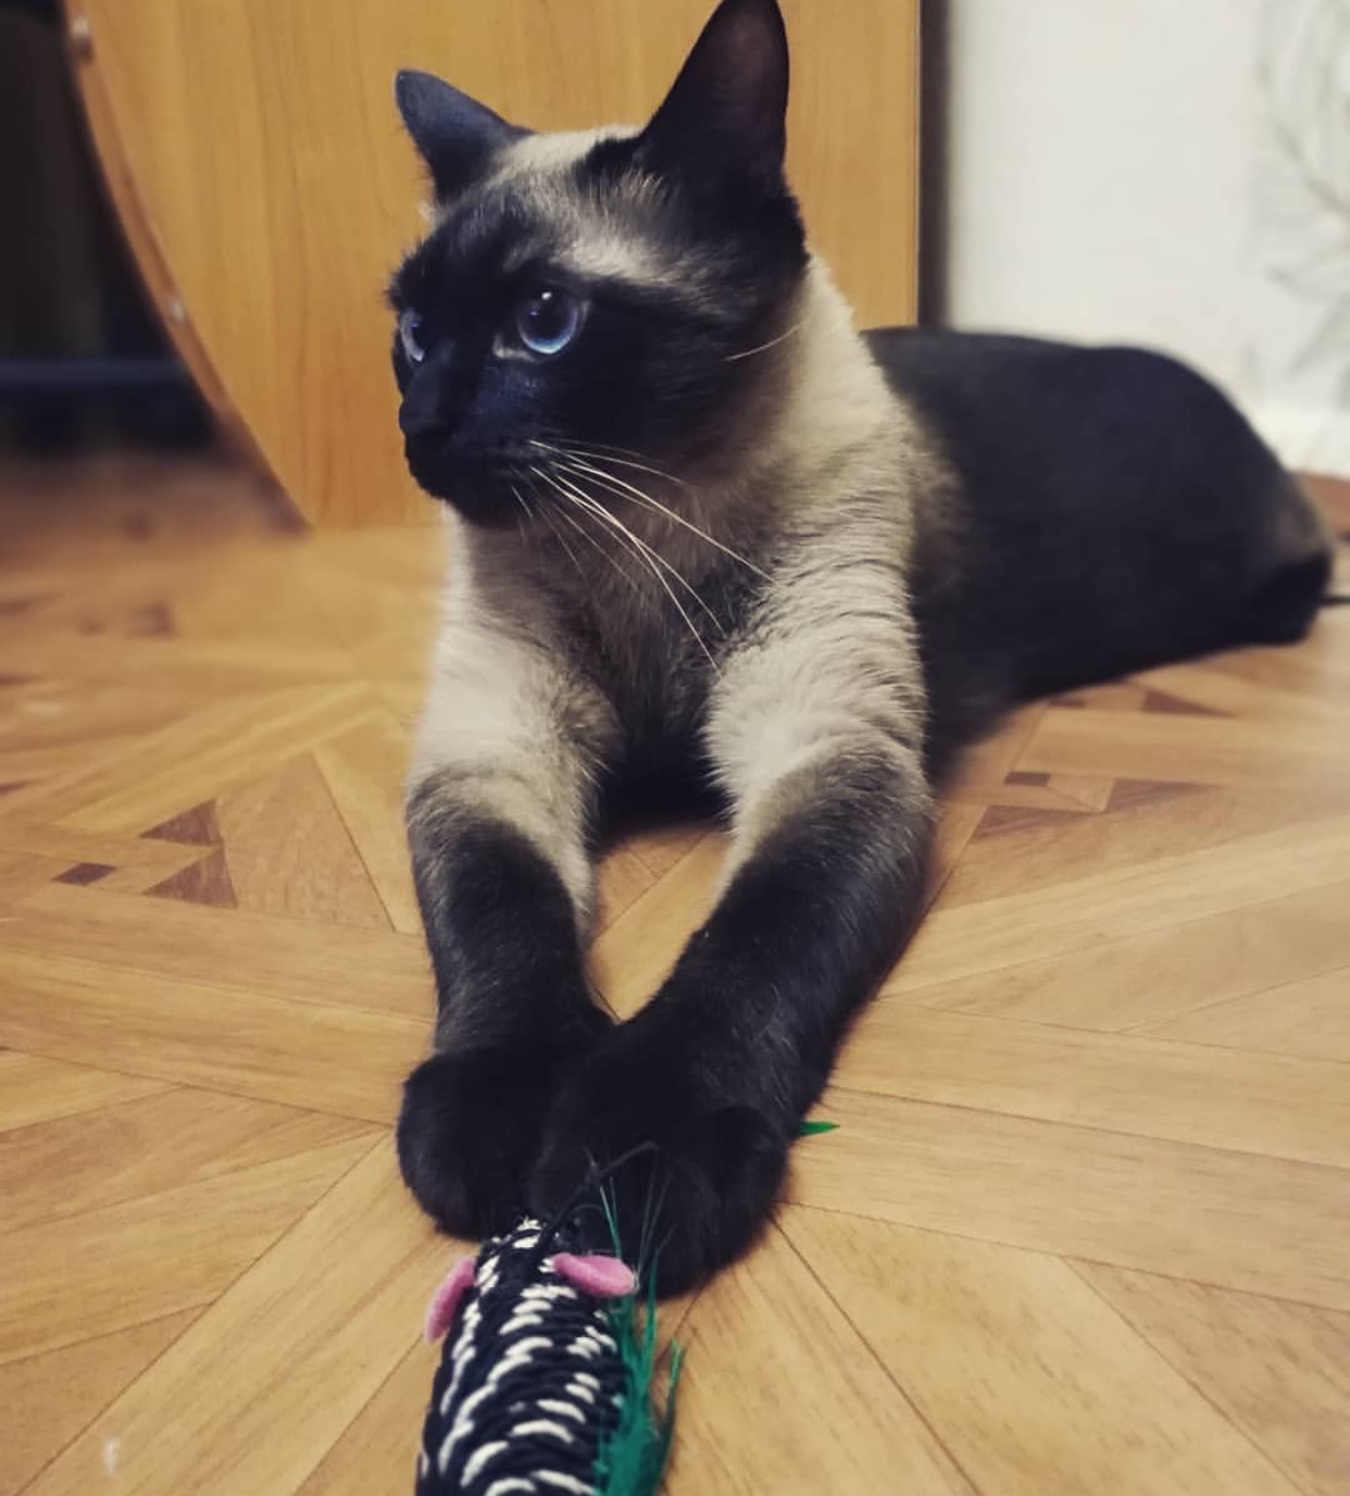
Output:
<instances>
[{"instance_id":1,"label":"cat's left front leg, cream above and dark below, paw included","mask_svg":"<svg viewBox=\"0 0 1350 1496\"><path fill-rule=\"evenodd\" d=\"M582 938L604 714L544 654L456 636L438 661L407 797L437 981L408 1077L404 1179L447 1231L513 1224L561 1074L610 1028Z\"/></svg>"}]
</instances>

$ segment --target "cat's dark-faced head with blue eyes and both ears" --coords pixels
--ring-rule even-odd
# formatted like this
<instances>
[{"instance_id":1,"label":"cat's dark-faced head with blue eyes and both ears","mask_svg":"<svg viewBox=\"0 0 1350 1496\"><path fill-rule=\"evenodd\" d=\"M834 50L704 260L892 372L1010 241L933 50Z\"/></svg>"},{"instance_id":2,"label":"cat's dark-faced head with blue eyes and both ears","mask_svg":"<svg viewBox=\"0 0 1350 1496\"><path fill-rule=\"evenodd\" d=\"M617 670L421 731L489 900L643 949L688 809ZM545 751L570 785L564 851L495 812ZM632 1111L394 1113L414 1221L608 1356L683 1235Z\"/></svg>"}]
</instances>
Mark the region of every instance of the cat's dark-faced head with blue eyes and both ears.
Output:
<instances>
[{"instance_id":1,"label":"cat's dark-faced head with blue eyes and both ears","mask_svg":"<svg viewBox=\"0 0 1350 1496\"><path fill-rule=\"evenodd\" d=\"M725 468L807 259L774 0L722 0L641 130L535 135L428 73L396 96L435 190L390 287L417 482L508 525L617 503L586 467Z\"/></svg>"}]
</instances>

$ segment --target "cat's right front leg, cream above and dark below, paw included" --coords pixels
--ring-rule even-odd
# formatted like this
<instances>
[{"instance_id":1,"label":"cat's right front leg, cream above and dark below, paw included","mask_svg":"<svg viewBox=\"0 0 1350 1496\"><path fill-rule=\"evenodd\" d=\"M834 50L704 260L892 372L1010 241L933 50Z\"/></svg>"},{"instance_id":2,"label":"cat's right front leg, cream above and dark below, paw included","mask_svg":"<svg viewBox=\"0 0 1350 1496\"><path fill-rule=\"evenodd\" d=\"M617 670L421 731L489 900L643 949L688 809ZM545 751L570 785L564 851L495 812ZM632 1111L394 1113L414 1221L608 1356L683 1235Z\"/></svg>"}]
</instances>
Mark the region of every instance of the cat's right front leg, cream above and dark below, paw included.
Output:
<instances>
[{"instance_id":1,"label":"cat's right front leg, cream above and dark below, paw included","mask_svg":"<svg viewBox=\"0 0 1350 1496\"><path fill-rule=\"evenodd\" d=\"M933 802L903 639L861 679L830 633L824 654L801 643L728 672L710 735L736 796L725 892L652 1002L564 1082L532 1179L544 1209L588 1159L655 1144L613 1189L623 1246L656 1248L662 1294L753 1239L849 1017L921 908Z\"/></svg>"}]
</instances>

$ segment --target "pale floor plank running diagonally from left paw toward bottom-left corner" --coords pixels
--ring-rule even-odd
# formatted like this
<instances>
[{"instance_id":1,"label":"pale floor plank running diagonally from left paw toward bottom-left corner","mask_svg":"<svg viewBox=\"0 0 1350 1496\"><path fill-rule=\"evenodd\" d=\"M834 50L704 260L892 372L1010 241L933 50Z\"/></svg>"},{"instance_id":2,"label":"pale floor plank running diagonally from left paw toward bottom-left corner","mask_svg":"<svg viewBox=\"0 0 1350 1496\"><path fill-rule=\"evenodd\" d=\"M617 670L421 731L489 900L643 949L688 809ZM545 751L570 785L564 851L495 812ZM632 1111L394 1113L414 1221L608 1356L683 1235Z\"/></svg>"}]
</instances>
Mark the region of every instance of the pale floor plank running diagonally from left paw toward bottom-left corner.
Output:
<instances>
[{"instance_id":1,"label":"pale floor plank running diagonally from left paw toward bottom-left corner","mask_svg":"<svg viewBox=\"0 0 1350 1496\"><path fill-rule=\"evenodd\" d=\"M405 1198L390 1150L363 1144L345 1177L66 1450L34 1496L88 1490L109 1436L127 1492L295 1489L416 1343L426 1282L446 1255ZM221 1382L248 1396L221 1397ZM327 1396L315 1397L315 1384Z\"/></svg>"}]
</instances>

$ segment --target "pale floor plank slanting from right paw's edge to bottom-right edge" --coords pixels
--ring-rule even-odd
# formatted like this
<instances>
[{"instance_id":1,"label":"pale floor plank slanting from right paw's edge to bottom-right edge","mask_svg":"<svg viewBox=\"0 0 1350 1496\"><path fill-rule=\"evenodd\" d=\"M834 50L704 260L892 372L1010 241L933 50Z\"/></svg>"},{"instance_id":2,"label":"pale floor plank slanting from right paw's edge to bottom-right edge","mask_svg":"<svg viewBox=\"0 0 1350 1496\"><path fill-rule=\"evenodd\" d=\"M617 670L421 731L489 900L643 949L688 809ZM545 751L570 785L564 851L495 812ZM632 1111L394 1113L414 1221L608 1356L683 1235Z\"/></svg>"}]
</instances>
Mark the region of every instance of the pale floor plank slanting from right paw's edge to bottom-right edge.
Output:
<instances>
[{"instance_id":1,"label":"pale floor plank slanting from right paw's edge to bottom-right edge","mask_svg":"<svg viewBox=\"0 0 1350 1496\"><path fill-rule=\"evenodd\" d=\"M785 1230L976 1489L1298 1492L1067 1263L816 1210Z\"/></svg>"}]
</instances>

